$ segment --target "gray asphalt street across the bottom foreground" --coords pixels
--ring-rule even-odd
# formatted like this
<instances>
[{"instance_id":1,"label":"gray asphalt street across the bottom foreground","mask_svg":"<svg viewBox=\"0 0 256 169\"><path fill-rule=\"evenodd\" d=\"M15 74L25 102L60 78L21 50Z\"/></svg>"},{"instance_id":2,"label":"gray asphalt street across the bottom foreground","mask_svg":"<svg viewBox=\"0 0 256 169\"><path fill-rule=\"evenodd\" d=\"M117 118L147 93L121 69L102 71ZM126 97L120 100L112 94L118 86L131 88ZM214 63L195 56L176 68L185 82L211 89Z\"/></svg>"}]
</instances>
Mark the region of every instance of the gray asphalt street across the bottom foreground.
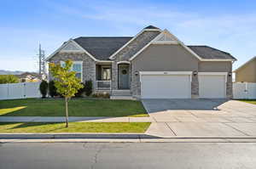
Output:
<instances>
[{"instance_id":1,"label":"gray asphalt street across the bottom foreground","mask_svg":"<svg viewBox=\"0 0 256 169\"><path fill-rule=\"evenodd\" d=\"M256 168L256 143L8 143L0 168Z\"/></svg>"}]
</instances>

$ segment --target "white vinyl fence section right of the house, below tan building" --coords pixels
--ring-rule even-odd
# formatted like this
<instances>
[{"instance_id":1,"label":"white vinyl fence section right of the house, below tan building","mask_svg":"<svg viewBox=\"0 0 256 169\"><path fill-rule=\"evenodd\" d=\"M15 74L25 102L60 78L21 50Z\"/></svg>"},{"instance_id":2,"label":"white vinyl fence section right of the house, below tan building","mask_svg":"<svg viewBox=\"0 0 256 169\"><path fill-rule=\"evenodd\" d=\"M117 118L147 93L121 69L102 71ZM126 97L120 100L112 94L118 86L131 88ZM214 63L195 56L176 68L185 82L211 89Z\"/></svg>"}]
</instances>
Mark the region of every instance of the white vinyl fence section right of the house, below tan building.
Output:
<instances>
[{"instance_id":1,"label":"white vinyl fence section right of the house, below tan building","mask_svg":"<svg viewBox=\"0 0 256 169\"><path fill-rule=\"evenodd\" d=\"M234 82L234 99L256 99L256 83L254 82Z\"/></svg>"}]
</instances>

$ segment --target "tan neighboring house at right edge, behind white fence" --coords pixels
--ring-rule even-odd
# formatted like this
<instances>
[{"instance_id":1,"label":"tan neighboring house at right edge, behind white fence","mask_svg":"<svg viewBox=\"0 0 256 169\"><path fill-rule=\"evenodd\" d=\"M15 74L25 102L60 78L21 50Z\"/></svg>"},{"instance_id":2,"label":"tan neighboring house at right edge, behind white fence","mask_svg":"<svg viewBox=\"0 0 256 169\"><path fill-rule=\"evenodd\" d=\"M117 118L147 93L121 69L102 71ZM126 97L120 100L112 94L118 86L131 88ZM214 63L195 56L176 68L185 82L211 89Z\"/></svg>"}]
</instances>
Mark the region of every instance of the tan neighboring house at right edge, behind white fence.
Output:
<instances>
[{"instance_id":1,"label":"tan neighboring house at right edge, behind white fence","mask_svg":"<svg viewBox=\"0 0 256 169\"><path fill-rule=\"evenodd\" d=\"M256 82L256 56L234 71L236 82Z\"/></svg>"}]
</instances>

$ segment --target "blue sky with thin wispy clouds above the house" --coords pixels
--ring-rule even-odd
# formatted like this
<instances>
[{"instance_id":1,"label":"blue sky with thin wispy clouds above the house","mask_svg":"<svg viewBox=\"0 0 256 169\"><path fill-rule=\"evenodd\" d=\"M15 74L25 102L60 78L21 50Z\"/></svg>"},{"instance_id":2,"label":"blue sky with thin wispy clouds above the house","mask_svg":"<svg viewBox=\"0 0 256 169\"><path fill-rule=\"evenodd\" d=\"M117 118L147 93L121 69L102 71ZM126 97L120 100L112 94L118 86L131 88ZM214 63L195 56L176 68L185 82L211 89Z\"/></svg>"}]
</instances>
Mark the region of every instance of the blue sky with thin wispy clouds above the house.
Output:
<instances>
[{"instance_id":1,"label":"blue sky with thin wispy clouds above the house","mask_svg":"<svg viewBox=\"0 0 256 169\"><path fill-rule=\"evenodd\" d=\"M147 25L187 45L232 54L236 69L256 55L256 1L1 0L0 70L38 71L46 56L75 37L135 36Z\"/></svg>"}]
</instances>

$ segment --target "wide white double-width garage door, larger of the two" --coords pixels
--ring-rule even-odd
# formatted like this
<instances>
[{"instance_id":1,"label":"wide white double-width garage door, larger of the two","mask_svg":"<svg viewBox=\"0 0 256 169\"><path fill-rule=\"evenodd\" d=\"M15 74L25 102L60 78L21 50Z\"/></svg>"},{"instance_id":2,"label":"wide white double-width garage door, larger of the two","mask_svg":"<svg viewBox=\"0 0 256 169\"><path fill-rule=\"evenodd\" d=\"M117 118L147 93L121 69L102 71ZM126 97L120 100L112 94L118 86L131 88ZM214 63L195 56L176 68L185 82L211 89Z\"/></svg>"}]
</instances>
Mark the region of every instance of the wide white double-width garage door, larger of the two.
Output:
<instances>
[{"instance_id":1,"label":"wide white double-width garage door, larger of the two","mask_svg":"<svg viewBox=\"0 0 256 169\"><path fill-rule=\"evenodd\" d=\"M142 75L142 99L190 99L189 75Z\"/></svg>"}]
</instances>

